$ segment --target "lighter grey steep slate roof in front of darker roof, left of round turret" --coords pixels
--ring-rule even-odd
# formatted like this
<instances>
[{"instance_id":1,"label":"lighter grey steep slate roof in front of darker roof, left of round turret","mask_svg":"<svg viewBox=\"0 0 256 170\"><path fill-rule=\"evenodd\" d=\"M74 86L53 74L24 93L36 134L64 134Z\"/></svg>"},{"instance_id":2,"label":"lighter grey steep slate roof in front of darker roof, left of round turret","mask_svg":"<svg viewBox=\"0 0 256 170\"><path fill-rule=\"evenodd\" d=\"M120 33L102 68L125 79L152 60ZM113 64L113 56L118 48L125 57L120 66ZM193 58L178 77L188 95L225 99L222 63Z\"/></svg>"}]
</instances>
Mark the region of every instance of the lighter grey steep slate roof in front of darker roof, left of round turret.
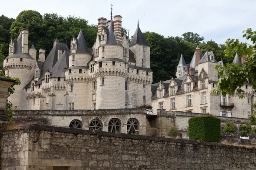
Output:
<instances>
[{"instance_id":1,"label":"lighter grey steep slate roof in front of darker roof, left of round turret","mask_svg":"<svg viewBox=\"0 0 256 170\"><path fill-rule=\"evenodd\" d=\"M64 71L69 67L70 51L64 51L54 67L51 69L51 77L65 77Z\"/></svg>"}]
</instances>

